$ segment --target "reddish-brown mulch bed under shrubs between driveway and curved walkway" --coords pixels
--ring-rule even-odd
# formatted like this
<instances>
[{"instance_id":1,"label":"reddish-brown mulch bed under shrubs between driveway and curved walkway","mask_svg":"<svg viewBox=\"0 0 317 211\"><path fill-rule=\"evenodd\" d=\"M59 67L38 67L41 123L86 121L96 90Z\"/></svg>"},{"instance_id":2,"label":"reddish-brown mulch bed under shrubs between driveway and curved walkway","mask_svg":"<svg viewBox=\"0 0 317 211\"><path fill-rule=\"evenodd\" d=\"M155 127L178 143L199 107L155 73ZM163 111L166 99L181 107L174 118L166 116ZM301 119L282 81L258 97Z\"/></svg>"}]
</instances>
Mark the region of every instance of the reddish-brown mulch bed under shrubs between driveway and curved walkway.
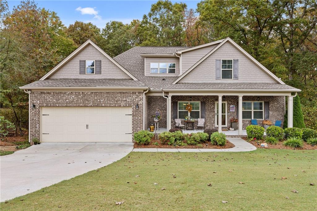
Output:
<instances>
[{"instance_id":1,"label":"reddish-brown mulch bed under shrubs between driveway and curved walkway","mask_svg":"<svg viewBox=\"0 0 317 211\"><path fill-rule=\"evenodd\" d=\"M155 142L158 142L159 145L154 145ZM134 148L187 148L187 149L196 149L196 148L205 148L205 149L227 149L227 148L233 148L235 145L233 143L229 142L227 140L226 144L224 146L218 146L213 145L210 142L204 142L202 143L203 146L197 146L197 145L186 145L186 146L171 146L167 144L162 144L160 140L155 140L152 138L150 144L148 145L139 145L136 142L134 142Z\"/></svg>"}]
</instances>

